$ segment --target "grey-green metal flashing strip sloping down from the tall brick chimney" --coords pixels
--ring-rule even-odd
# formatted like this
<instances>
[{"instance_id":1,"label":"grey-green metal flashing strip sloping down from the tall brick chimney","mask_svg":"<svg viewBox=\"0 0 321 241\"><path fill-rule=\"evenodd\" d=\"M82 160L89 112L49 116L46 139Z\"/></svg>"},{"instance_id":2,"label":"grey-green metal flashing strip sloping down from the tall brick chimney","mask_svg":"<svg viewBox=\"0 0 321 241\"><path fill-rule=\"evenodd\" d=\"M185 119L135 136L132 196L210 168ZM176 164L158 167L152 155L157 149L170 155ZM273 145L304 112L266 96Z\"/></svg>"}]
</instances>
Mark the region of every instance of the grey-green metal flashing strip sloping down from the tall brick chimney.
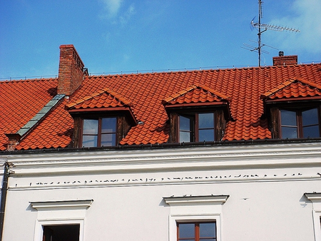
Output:
<instances>
[{"instance_id":1,"label":"grey-green metal flashing strip sloping down from the tall brick chimney","mask_svg":"<svg viewBox=\"0 0 321 241\"><path fill-rule=\"evenodd\" d=\"M24 125L20 130L17 131L17 134L21 135L21 138L23 138L24 135L26 135L26 133L34 128L34 126L36 126L51 111L51 109L53 109L56 104L61 101L64 96L65 95L61 94L54 96L54 98L52 98L51 101L49 101L46 106L44 106L44 108L36 113L36 116L31 118L31 120L29 120L26 125Z\"/></svg>"}]
</instances>

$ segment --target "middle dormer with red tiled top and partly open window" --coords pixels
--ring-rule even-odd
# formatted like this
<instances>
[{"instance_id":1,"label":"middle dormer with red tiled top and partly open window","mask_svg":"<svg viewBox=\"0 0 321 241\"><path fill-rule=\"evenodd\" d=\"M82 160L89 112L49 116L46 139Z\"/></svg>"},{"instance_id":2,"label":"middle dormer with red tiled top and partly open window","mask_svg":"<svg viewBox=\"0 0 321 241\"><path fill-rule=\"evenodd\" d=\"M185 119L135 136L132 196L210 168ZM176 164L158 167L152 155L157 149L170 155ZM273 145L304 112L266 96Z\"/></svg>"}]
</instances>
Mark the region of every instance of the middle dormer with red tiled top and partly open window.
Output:
<instances>
[{"instance_id":1,"label":"middle dormer with red tiled top and partly open window","mask_svg":"<svg viewBox=\"0 0 321 241\"><path fill-rule=\"evenodd\" d=\"M221 140L230 119L229 98L206 86L190 86L163 100L170 121L170 142Z\"/></svg>"}]
</instances>

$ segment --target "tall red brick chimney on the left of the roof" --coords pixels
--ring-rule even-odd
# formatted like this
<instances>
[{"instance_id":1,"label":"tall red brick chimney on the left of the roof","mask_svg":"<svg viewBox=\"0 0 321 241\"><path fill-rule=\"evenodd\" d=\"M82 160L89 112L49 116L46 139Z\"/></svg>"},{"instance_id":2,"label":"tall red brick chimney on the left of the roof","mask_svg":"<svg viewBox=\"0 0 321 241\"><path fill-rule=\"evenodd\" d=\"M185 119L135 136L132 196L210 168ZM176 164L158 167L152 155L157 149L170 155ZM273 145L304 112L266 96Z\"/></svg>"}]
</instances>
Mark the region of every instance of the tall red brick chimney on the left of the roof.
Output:
<instances>
[{"instance_id":1,"label":"tall red brick chimney on the left of the roof","mask_svg":"<svg viewBox=\"0 0 321 241\"><path fill-rule=\"evenodd\" d=\"M72 44L61 45L59 48L58 94L70 96L81 86L88 71L83 68L83 61Z\"/></svg>"}]
</instances>

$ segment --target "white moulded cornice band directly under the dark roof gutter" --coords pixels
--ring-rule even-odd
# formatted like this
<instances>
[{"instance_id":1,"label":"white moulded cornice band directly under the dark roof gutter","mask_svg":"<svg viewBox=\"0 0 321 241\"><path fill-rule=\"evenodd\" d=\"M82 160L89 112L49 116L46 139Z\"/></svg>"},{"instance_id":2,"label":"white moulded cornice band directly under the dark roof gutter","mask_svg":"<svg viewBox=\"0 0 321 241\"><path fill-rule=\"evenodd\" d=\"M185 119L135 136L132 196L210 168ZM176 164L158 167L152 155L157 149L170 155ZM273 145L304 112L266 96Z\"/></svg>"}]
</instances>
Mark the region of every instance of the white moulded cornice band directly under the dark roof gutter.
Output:
<instances>
[{"instance_id":1,"label":"white moulded cornice band directly under the dark roof gutter","mask_svg":"<svg viewBox=\"0 0 321 241\"><path fill-rule=\"evenodd\" d=\"M320 166L320 157L320 143L295 143L39 153L8 160L22 176L309 167Z\"/></svg>"}]
</instances>

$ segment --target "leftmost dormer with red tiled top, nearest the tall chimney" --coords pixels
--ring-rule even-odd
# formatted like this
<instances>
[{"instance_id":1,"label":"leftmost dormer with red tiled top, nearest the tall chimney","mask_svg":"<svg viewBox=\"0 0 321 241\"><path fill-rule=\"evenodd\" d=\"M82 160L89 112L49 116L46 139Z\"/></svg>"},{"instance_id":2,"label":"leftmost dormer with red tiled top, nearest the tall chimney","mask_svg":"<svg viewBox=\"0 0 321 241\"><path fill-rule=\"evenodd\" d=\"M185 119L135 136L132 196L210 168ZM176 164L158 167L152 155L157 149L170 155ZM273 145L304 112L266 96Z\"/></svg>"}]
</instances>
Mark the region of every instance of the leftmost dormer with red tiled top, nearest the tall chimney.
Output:
<instances>
[{"instance_id":1,"label":"leftmost dormer with red tiled top, nearest the tall chimney","mask_svg":"<svg viewBox=\"0 0 321 241\"><path fill-rule=\"evenodd\" d=\"M137 125L133 105L109 88L66 105L73 117L73 148L116 146Z\"/></svg>"}]
</instances>

